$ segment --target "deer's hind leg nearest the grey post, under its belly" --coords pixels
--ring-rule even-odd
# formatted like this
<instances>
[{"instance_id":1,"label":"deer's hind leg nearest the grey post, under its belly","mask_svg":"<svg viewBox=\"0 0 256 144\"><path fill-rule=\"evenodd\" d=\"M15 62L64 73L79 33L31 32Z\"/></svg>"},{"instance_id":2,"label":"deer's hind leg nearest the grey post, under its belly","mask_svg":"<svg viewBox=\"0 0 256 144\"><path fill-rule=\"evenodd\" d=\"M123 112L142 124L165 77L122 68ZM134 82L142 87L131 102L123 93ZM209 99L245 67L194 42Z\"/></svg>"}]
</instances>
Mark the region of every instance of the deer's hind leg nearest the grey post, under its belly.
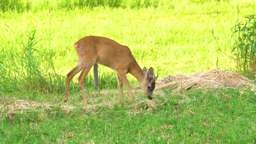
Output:
<instances>
[{"instance_id":1,"label":"deer's hind leg nearest the grey post, under its belly","mask_svg":"<svg viewBox=\"0 0 256 144\"><path fill-rule=\"evenodd\" d=\"M86 101L86 95L85 95L85 91L84 91L84 79L86 77L86 75L88 75L91 67L95 64L95 61L90 61L90 62L85 62L84 63L84 68L80 74L80 76L78 77L78 82L79 82L79 86L83 95L83 100L84 103L87 104Z\"/></svg>"}]
</instances>

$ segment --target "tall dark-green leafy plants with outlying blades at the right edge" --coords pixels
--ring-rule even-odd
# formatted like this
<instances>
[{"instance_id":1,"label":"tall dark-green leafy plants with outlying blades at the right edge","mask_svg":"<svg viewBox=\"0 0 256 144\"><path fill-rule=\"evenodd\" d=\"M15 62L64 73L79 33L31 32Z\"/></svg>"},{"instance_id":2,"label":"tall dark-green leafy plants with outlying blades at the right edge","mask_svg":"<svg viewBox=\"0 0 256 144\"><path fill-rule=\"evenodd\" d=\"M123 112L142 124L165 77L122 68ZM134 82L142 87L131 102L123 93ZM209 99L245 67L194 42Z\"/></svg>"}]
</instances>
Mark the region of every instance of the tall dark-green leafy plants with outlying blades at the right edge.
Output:
<instances>
[{"instance_id":1,"label":"tall dark-green leafy plants with outlying blades at the right edge","mask_svg":"<svg viewBox=\"0 0 256 144\"><path fill-rule=\"evenodd\" d=\"M234 25L230 28L231 34L226 34L223 30L225 39L227 43L230 44L231 55L222 52L221 48L219 51L235 62L234 70L243 74L249 74L249 77L253 77L256 71L256 15L254 13L254 1L252 2L253 9L251 13L242 16L243 19L240 18L240 6L241 5L237 5L236 8L237 21L234 22ZM220 26L223 27L221 22ZM214 36L213 30L212 35L218 44L218 39ZM230 39L228 37L230 37Z\"/></svg>"}]
</instances>

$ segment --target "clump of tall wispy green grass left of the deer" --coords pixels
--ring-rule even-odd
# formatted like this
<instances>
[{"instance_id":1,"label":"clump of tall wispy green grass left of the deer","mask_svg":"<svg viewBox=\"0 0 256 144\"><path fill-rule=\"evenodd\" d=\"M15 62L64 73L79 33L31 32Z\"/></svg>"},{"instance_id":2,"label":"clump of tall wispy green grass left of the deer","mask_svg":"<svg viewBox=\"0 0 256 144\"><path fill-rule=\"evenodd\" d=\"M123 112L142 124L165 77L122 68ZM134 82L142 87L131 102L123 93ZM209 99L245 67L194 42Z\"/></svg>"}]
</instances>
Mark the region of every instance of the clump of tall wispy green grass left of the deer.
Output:
<instances>
[{"instance_id":1,"label":"clump of tall wispy green grass left of the deer","mask_svg":"<svg viewBox=\"0 0 256 144\"><path fill-rule=\"evenodd\" d=\"M0 81L4 91L63 91L63 76L55 71L53 51L40 51L37 40L33 28L26 36L20 35L20 49L2 49Z\"/></svg>"}]
</instances>

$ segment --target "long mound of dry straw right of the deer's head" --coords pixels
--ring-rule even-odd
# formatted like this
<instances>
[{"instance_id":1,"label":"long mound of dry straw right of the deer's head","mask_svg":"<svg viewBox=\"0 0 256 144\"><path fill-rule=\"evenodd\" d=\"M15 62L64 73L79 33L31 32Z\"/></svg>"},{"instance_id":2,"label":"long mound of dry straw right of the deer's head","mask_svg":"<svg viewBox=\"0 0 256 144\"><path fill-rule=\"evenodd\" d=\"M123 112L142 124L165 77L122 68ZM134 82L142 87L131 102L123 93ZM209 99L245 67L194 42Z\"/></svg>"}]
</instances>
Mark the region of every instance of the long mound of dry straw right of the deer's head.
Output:
<instances>
[{"instance_id":1,"label":"long mound of dry straw right of the deer's head","mask_svg":"<svg viewBox=\"0 0 256 144\"><path fill-rule=\"evenodd\" d=\"M202 88L222 88L222 87L251 87L252 91L255 85L246 77L224 70L209 70L192 75L169 75L159 80L158 88L179 89L202 89Z\"/></svg>"}]
</instances>

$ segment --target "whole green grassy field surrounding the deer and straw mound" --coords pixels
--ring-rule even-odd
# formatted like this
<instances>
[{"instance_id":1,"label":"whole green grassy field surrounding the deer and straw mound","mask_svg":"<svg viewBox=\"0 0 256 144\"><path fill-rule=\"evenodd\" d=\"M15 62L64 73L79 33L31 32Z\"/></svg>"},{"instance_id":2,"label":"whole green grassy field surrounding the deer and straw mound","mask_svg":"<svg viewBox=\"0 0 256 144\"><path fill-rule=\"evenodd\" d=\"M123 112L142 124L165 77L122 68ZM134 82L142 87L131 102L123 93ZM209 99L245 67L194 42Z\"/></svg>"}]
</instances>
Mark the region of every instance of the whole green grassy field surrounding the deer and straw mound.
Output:
<instances>
[{"instance_id":1,"label":"whole green grassy field surrounding the deer and straw mound","mask_svg":"<svg viewBox=\"0 0 256 144\"><path fill-rule=\"evenodd\" d=\"M69 2L0 2L0 143L255 143L255 89L163 88L148 100L133 88L130 101L126 89L120 99L115 71L99 65L100 90L92 70L85 80L88 105L78 76L63 103L66 74L77 63L73 44L86 35L129 46L160 79L236 70L231 28L255 14L254 1ZM16 109L15 100L40 105Z\"/></svg>"}]
</instances>

